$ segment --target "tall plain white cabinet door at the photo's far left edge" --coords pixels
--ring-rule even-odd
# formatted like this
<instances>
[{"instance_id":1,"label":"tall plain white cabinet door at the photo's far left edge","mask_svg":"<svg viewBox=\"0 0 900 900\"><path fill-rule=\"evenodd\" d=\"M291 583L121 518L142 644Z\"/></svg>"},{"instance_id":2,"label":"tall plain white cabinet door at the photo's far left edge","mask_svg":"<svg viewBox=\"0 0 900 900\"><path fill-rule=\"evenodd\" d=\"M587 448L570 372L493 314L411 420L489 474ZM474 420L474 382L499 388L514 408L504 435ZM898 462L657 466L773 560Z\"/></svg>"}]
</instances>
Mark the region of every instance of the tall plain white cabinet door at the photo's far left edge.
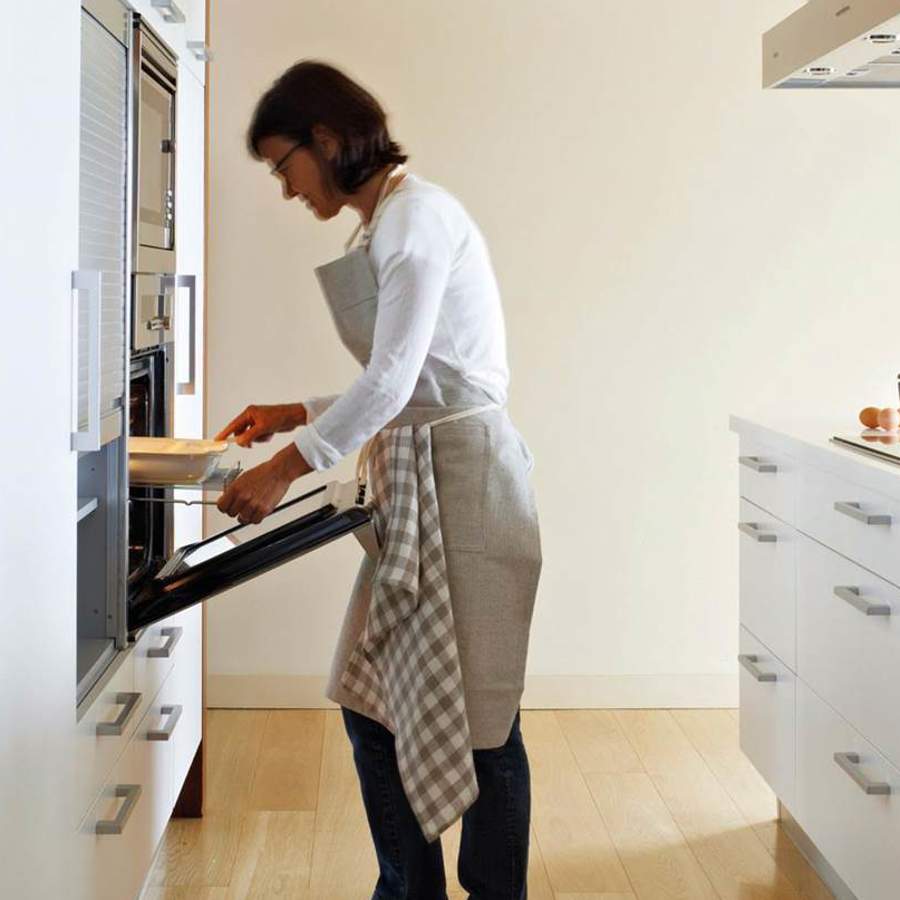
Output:
<instances>
[{"instance_id":1,"label":"tall plain white cabinet door at the photo's far left edge","mask_svg":"<svg viewBox=\"0 0 900 900\"><path fill-rule=\"evenodd\" d=\"M0 354L0 896L68 897L77 815L76 457L72 272L78 268L78 4L6 7ZM83 811L83 810L82 810Z\"/></svg>"}]
</instances>

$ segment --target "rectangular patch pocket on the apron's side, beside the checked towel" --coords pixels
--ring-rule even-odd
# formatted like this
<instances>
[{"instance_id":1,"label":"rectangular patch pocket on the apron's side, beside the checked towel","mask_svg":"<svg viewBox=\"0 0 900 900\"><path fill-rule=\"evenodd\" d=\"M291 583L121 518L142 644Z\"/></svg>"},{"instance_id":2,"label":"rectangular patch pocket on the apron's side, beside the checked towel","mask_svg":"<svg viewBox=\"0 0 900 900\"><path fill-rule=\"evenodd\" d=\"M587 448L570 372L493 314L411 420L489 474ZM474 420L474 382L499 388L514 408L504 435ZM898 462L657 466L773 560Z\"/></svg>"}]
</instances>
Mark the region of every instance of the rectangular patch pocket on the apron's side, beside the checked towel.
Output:
<instances>
[{"instance_id":1,"label":"rectangular patch pocket on the apron's side, beside the checked towel","mask_svg":"<svg viewBox=\"0 0 900 900\"><path fill-rule=\"evenodd\" d=\"M446 422L431 432L441 536L446 550L484 550L490 440L483 422Z\"/></svg>"}]
</instances>

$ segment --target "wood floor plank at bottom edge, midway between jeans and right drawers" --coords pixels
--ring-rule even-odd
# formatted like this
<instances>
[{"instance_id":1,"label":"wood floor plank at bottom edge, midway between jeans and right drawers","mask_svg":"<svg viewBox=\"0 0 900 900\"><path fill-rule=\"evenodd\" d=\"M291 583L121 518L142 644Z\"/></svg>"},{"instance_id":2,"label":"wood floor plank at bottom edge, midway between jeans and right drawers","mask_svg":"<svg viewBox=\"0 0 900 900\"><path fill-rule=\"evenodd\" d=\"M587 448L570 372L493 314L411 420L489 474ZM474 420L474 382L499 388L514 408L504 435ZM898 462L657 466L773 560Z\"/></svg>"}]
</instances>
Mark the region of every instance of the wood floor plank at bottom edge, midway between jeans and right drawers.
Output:
<instances>
[{"instance_id":1,"label":"wood floor plank at bottom edge, midway between jeans and right drawers","mask_svg":"<svg viewBox=\"0 0 900 900\"><path fill-rule=\"evenodd\" d=\"M586 780L640 900L715 900L649 775L593 773Z\"/></svg>"}]
</instances>

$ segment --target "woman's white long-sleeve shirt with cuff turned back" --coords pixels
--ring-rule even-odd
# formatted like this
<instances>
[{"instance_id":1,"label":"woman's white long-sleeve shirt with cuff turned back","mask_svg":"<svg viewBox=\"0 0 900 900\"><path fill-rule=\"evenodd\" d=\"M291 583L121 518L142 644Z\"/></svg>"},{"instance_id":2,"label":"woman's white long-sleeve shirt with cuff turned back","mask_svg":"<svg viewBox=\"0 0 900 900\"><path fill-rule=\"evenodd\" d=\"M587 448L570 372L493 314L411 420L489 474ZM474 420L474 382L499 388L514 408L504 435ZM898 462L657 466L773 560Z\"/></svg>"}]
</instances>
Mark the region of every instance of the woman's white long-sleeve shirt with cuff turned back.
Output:
<instances>
[{"instance_id":1,"label":"woman's white long-sleeve shirt with cuff turned back","mask_svg":"<svg viewBox=\"0 0 900 900\"><path fill-rule=\"evenodd\" d=\"M478 226L448 191L411 172L388 194L369 255L378 309L368 365L342 394L303 401L294 441L317 470L335 465L418 406L505 404L500 293Z\"/></svg>"}]
</instances>

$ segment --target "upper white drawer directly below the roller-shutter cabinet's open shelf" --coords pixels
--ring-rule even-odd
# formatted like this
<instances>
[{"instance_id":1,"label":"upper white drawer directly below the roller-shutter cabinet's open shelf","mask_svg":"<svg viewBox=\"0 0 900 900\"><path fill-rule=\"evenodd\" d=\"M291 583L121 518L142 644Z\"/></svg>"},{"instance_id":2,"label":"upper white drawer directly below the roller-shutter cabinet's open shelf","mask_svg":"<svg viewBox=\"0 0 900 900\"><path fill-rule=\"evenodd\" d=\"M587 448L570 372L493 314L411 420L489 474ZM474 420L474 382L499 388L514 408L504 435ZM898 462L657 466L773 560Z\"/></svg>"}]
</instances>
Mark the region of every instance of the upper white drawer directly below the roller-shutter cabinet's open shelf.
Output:
<instances>
[{"instance_id":1,"label":"upper white drawer directly below the roller-shutter cabinet's open shelf","mask_svg":"<svg viewBox=\"0 0 900 900\"><path fill-rule=\"evenodd\" d=\"M143 698L134 687L134 662L123 651L119 667L75 726L75 828L94 801L140 720ZM113 663L115 665L115 662Z\"/></svg>"}]
</instances>

